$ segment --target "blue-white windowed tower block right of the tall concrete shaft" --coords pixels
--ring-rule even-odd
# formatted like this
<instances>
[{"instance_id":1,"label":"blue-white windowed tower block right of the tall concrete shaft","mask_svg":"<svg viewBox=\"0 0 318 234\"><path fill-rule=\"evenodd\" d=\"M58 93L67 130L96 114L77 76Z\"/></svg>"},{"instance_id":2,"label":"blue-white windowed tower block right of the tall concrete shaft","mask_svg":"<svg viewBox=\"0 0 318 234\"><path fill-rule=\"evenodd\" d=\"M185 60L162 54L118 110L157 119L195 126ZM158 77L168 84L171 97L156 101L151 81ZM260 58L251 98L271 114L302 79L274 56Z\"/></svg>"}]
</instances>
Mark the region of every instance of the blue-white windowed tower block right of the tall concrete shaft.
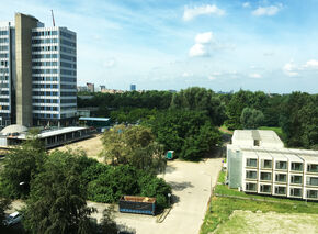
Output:
<instances>
[{"instance_id":1,"label":"blue-white windowed tower block right of the tall concrete shaft","mask_svg":"<svg viewBox=\"0 0 318 234\"><path fill-rule=\"evenodd\" d=\"M32 90L35 124L76 116L76 33L57 26L32 30Z\"/></svg>"}]
</instances>

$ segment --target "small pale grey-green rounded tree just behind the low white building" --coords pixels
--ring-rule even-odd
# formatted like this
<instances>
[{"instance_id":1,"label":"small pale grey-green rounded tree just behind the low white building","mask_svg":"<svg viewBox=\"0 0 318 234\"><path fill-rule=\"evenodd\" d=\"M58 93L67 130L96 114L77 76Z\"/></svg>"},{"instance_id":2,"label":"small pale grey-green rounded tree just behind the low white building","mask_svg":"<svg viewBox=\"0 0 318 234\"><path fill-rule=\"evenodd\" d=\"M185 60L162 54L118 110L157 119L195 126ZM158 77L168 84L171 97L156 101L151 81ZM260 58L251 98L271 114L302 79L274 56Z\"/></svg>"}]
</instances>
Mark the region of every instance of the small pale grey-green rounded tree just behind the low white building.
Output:
<instances>
[{"instance_id":1,"label":"small pale grey-green rounded tree just behind the low white building","mask_svg":"<svg viewBox=\"0 0 318 234\"><path fill-rule=\"evenodd\" d=\"M243 129L258 129L264 122L264 115L261 111L251 108L245 108L240 118Z\"/></svg>"}]
</instances>

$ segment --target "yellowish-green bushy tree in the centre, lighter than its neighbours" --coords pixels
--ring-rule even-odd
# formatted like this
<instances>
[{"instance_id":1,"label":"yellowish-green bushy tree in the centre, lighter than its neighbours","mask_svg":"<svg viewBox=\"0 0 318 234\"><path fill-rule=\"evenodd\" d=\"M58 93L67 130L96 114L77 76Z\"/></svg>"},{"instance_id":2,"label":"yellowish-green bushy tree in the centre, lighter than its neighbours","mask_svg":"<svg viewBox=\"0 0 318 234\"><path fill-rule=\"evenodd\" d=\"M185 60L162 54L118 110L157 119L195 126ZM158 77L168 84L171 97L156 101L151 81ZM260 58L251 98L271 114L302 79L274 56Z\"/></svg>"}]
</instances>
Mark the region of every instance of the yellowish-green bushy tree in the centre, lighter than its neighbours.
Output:
<instances>
[{"instance_id":1,"label":"yellowish-green bushy tree in the centre, lighter than its neighbours","mask_svg":"<svg viewBox=\"0 0 318 234\"><path fill-rule=\"evenodd\" d=\"M112 165L130 165L154 172L166 168L163 147L155 142L147 126L116 125L104 133L102 142L101 156Z\"/></svg>"}]
</instances>

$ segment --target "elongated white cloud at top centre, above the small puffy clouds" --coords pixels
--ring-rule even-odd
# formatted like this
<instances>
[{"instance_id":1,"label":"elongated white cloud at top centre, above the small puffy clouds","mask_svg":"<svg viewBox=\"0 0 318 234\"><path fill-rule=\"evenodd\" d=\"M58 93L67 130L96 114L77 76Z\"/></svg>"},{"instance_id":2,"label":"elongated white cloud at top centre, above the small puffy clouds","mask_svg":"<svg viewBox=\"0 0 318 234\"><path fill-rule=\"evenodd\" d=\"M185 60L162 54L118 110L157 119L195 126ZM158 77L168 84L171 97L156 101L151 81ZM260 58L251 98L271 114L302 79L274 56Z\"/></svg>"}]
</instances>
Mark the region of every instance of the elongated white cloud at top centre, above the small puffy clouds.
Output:
<instances>
[{"instance_id":1,"label":"elongated white cloud at top centre, above the small puffy clouds","mask_svg":"<svg viewBox=\"0 0 318 234\"><path fill-rule=\"evenodd\" d=\"M225 11L217 8L215 4L206 4L202 7L194 7L194 8L184 8L183 12L183 20L191 21L194 18L203 14L215 14L222 16L225 14Z\"/></svg>"}]
</instances>

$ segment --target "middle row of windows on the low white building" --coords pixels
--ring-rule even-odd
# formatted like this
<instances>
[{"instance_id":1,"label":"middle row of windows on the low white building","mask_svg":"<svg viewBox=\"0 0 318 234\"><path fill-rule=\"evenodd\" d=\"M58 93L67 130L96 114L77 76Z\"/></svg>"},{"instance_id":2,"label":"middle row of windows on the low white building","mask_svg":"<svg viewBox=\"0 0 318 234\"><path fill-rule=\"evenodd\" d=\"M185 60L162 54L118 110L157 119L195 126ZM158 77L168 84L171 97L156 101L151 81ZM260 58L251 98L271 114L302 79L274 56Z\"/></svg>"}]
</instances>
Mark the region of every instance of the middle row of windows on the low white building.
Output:
<instances>
[{"instance_id":1,"label":"middle row of windows on the low white building","mask_svg":"<svg viewBox=\"0 0 318 234\"><path fill-rule=\"evenodd\" d=\"M257 179L258 172L253 170L247 170L246 172L247 179ZM261 172L260 174L261 181L272 181L272 172ZM289 179L291 183L303 185L303 176L299 175L291 175ZM276 174L275 182L287 182L287 174ZM307 186L318 186L318 177L308 177L306 178Z\"/></svg>"}]
</instances>

